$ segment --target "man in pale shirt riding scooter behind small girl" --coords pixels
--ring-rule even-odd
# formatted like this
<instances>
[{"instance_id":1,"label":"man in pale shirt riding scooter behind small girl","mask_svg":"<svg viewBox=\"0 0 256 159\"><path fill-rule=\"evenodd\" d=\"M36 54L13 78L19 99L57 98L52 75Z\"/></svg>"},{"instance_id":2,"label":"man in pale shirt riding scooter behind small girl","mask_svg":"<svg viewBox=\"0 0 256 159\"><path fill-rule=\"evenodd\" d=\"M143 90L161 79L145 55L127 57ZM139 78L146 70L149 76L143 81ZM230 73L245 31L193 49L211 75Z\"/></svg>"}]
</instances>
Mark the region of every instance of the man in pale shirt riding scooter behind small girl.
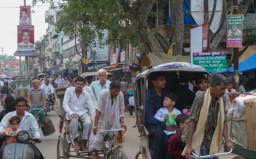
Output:
<instances>
[{"instance_id":1,"label":"man in pale shirt riding scooter behind small girl","mask_svg":"<svg viewBox=\"0 0 256 159\"><path fill-rule=\"evenodd\" d=\"M10 127L8 118L16 115L20 118L20 121L21 121L19 128L21 130L27 131L29 134L32 134L32 136L35 137L36 139L38 139L39 143L41 143L42 139L40 138L40 132L39 132L38 124L36 122L35 117L32 114L25 112L25 110L26 110L25 104L27 102L28 101L26 99L24 99L24 97L17 97L15 99L14 105L15 105L16 111L10 112L4 116L2 122L0 123L0 134L3 134L4 129ZM3 137L0 136L0 138L3 138ZM27 141L27 143L31 143L31 142ZM2 158L4 147L6 146L6 144L7 144L6 140L4 140L1 150L0 150L0 158ZM34 158L35 159L44 159L43 155L36 148L36 146L33 146L33 147L34 147Z\"/></svg>"}]
</instances>

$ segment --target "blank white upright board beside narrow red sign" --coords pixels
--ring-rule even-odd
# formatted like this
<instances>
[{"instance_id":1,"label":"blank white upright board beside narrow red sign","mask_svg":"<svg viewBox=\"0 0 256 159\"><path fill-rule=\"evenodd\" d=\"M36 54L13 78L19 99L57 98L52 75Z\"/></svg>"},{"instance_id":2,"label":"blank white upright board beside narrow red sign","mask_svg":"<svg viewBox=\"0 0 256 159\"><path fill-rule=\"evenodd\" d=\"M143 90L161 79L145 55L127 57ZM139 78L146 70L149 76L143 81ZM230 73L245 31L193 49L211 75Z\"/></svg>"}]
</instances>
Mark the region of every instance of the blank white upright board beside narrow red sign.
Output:
<instances>
[{"instance_id":1,"label":"blank white upright board beside narrow red sign","mask_svg":"<svg viewBox=\"0 0 256 159\"><path fill-rule=\"evenodd\" d=\"M193 52L203 52L203 26L190 30L190 63L193 64Z\"/></svg>"}]
</instances>

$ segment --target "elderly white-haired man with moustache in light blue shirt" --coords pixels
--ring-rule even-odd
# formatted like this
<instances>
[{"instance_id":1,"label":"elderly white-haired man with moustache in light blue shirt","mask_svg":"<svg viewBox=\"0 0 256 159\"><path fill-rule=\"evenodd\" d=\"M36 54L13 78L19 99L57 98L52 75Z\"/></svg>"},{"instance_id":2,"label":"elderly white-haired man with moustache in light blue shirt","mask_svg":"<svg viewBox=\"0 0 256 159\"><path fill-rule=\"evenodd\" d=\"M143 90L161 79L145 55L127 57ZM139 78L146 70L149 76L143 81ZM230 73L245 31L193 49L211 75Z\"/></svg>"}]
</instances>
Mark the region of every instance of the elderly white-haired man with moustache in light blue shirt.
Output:
<instances>
[{"instance_id":1,"label":"elderly white-haired man with moustache in light blue shirt","mask_svg":"<svg viewBox=\"0 0 256 159\"><path fill-rule=\"evenodd\" d=\"M107 70L100 69L97 72L98 80L92 82L90 85L90 87L93 89L94 96L95 96L96 100L98 100L98 97L102 90L109 88L109 84L111 83L111 81L107 80L108 79L107 73L108 73Z\"/></svg>"}]
</instances>

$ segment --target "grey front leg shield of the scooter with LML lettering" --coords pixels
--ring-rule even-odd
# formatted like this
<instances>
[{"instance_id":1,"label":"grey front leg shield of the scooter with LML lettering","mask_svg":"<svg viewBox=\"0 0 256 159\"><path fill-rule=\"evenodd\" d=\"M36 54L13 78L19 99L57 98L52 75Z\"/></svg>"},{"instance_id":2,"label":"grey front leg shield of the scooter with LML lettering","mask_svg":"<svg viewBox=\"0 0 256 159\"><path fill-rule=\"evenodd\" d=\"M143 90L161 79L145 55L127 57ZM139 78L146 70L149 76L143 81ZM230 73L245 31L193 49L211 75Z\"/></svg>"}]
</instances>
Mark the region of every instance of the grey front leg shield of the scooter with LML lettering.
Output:
<instances>
[{"instance_id":1,"label":"grey front leg shield of the scooter with LML lettering","mask_svg":"<svg viewBox=\"0 0 256 159\"><path fill-rule=\"evenodd\" d=\"M34 159L34 149L26 143L11 142L4 148L3 158L9 159Z\"/></svg>"}]
</instances>

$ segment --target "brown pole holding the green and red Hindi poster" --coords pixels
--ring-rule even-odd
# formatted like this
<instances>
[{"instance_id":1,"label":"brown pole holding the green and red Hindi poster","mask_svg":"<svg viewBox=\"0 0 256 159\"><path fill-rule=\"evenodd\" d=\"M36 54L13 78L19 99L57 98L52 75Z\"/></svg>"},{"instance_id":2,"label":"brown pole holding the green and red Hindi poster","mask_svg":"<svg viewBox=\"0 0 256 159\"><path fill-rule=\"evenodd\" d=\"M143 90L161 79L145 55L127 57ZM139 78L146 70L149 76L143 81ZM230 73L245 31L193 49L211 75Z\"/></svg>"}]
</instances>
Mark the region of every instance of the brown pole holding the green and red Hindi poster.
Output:
<instances>
[{"instance_id":1,"label":"brown pole holding the green and red Hindi poster","mask_svg":"<svg viewBox=\"0 0 256 159\"><path fill-rule=\"evenodd\" d=\"M238 2L237 0L233 1L233 14L237 14L238 10ZM235 85L236 92L239 92L239 53L238 48L233 48L234 52L234 76L233 76L233 82Z\"/></svg>"}]
</instances>

